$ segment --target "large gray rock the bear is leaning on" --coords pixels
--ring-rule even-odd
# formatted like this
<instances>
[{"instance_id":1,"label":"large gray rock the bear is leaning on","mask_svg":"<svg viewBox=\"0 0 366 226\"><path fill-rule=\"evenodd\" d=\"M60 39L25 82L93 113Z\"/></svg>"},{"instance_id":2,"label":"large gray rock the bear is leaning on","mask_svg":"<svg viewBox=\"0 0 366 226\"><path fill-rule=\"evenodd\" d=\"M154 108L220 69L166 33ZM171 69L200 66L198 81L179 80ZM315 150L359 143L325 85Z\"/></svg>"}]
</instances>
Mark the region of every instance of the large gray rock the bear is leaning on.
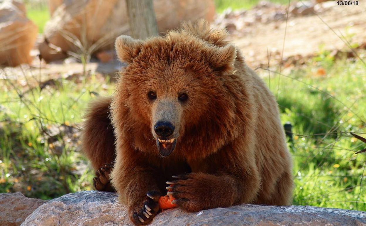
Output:
<instances>
[{"instance_id":1,"label":"large gray rock the bear is leaning on","mask_svg":"<svg viewBox=\"0 0 366 226\"><path fill-rule=\"evenodd\" d=\"M66 194L37 208L22 226L132 225L126 208L109 192ZM188 213L179 208L158 214L151 225L366 225L366 212L310 206L243 204Z\"/></svg>"}]
</instances>

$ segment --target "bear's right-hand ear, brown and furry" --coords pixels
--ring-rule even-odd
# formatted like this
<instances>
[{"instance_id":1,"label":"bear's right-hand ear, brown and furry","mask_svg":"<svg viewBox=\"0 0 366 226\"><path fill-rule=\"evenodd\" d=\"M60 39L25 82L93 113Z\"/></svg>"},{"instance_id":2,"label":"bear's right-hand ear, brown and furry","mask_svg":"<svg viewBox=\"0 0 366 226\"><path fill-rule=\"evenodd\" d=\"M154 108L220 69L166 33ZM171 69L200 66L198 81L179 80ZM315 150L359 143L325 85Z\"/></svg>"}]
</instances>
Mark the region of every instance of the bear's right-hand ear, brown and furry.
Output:
<instances>
[{"instance_id":1,"label":"bear's right-hand ear, brown and furry","mask_svg":"<svg viewBox=\"0 0 366 226\"><path fill-rule=\"evenodd\" d=\"M208 61L214 71L232 73L236 60L235 45L228 44L223 47L209 48Z\"/></svg>"}]
</instances>

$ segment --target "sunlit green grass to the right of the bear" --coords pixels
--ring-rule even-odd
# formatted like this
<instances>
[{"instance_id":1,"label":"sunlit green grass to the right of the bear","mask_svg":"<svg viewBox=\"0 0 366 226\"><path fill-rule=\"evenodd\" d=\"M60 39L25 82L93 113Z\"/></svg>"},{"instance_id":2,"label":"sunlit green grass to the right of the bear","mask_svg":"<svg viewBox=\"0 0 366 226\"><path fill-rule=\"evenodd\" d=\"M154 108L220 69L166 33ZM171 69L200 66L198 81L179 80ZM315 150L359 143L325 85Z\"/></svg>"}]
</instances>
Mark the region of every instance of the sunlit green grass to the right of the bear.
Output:
<instances>
[{"instance_id":1,"label":"sunlit green grass to the right of the bear","mask_svg":"<svg viewBox=\"0 0 366 226\"><path fill-rule=\"evenodd\" d=\"M366 145L345 133L365 133L365 72L361 60L335 62L327 53L286 77L261 71L278 92L281 121L293 125L294 205L366 211L366 156L355 155Z\"/></svg>"}]
</instances>

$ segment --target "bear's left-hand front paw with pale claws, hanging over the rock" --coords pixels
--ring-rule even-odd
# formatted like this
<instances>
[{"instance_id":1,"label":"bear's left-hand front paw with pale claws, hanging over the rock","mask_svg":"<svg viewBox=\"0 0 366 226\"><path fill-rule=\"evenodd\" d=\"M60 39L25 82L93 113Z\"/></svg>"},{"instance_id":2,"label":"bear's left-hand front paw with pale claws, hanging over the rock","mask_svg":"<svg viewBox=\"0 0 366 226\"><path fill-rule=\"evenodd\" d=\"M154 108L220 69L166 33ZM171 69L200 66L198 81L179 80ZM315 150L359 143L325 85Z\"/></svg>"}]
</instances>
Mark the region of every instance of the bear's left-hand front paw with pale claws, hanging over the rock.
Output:
<instances>
[{"instance_id":1,"label":"bear's left-hand front paw with pale claws, hanging over the rock","mask_svg":"<svg viewBox=\"0 0 366 226\"><path fill-rule=\"evenodd\" d=\"M158 191L149 191L146 193L146 199L139 204L133 204L130 209L130 219L135 225L149 224L159 211L158 200L161 193ZM135 202L136 203L136 202Z\"/></svg>"}]
</instances>

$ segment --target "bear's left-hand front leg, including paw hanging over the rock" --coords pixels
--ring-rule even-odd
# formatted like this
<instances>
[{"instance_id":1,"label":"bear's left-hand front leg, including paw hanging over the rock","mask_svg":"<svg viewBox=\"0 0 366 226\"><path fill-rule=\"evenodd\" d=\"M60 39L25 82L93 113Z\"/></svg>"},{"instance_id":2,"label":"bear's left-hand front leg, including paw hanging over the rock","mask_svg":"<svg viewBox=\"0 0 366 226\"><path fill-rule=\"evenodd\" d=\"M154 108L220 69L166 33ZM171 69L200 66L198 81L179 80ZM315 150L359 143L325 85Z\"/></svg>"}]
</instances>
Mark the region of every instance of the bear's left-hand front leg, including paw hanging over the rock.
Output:
<instances>
[{"instance_id":1,"label":"bear's left-hand front leg, including paw hanging over the rock","mask_svg":"<svg viewBox=\"0 0 366 226\"><path fill-rule=\"evenodd\" d=\"M131 147L121 147L111 178L119 199L127 204L128 215L135 225L150 223L159 211L158 186L161 171L149 166L149 160L136 155Z\"/></svg>"}]
</instances>

